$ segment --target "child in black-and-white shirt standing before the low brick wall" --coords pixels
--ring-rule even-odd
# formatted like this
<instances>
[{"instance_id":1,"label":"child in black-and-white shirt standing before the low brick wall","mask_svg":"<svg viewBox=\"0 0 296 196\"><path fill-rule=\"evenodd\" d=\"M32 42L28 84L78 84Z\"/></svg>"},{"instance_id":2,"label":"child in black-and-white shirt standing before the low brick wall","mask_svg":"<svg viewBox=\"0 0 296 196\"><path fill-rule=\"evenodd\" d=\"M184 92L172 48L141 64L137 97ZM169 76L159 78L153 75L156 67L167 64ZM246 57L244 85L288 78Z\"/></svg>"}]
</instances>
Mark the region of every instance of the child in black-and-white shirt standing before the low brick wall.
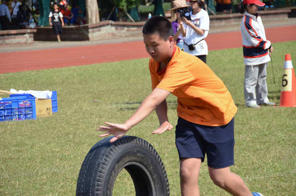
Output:
<instances>
[{"instance_id":1,"label":"child in black-and-white shirt standing before the low brick wall","mask_svg":"<svg viewBox=\"0 0 296 196\"><path fill-rule=\"evenodd\" d=\"M56 35L57 41L60 42L60 34L62 34L62 27L65 26L63 14L59 10L58 4L53 4L53 9L49 13L49 25L52 26L53 32Z\"/></svg>"}]
</instances>

